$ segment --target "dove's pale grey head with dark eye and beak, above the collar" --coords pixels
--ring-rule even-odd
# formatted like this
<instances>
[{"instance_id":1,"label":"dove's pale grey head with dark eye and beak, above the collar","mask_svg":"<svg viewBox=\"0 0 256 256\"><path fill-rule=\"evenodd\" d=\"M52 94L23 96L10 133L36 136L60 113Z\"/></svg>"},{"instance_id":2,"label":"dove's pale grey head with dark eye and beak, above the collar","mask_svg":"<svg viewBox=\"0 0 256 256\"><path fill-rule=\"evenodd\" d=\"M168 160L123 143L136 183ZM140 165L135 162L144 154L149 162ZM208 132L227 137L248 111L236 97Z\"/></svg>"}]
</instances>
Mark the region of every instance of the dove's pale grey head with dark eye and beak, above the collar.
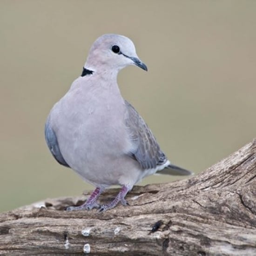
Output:
<instances>
[{"instance_id":1,"label":"dove's pale grey head with dark eye and beak, above the collar","mask_svg":"<svg viewBox=\"0 0 256 256\"><path fill-rule=\"evenodd\" d=\"M135 46L128 37L104 34L94 42L84 67L94 72L108 70L118 72L128 65L148 70L147 66L138 58Z\"/></svg>"}]
</instances>

